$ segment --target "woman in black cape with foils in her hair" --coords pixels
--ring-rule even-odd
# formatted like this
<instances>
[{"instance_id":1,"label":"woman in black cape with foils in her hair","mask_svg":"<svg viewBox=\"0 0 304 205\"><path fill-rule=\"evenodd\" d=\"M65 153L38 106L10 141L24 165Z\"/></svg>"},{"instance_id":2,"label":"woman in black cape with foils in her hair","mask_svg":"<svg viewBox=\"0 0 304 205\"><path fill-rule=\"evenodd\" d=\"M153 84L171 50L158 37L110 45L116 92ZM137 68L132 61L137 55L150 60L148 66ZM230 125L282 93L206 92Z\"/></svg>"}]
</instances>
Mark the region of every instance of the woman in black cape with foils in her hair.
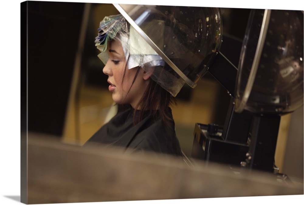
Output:
<instances>
[{"instance_id":1,"label":"woman in black cape with foils in her hair","mask_svg":"<svg viewBox=\"0 0 304 205\"><path fill-rule=\"evenodd\" d=\"M169 105L182 82L122 15L105 17L98 30L98 57L123 109L88 141L181 156Z\"/></svg>"}]
</instances>

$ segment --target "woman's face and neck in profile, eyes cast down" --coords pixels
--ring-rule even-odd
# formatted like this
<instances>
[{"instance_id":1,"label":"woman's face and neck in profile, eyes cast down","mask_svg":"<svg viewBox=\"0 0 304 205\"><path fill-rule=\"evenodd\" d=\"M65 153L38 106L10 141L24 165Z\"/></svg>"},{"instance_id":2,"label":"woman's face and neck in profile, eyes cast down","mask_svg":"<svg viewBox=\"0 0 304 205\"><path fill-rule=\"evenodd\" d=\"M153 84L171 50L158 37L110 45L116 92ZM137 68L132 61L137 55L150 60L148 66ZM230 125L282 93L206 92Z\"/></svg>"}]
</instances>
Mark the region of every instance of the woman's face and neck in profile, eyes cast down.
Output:
<instances>
[{"instance_id":1,"label":"woman's face and neck in profile, eyes cast down","mask_svg":"<svg viewBox=\"0 0 304 205\"><path fill-rule=\"evenodd\" d=\"M112 98L117 104L129 103L136 108L148 84L148 81L143 79L144 71L139 67L132 69L126 67L127 61L120 42L115 40L108 42L108 50L109 60L102 71L109 76L109 91L112 92ZM140 71L132 85L137 69Z\"/></svg>"}]
</instances>

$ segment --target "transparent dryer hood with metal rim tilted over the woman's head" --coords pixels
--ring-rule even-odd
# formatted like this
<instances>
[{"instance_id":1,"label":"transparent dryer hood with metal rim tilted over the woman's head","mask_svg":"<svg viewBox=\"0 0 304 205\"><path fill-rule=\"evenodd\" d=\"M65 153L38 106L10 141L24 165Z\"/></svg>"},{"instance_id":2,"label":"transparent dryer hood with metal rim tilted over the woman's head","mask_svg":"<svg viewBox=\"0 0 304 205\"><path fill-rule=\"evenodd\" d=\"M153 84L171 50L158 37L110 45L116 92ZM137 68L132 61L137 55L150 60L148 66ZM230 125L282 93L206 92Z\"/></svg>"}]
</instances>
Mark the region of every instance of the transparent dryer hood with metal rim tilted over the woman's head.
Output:
<instances>
[{"instance_id":1,"label":"transparent dryer hood with metal rim tilted over the woman's head","mask_svg":"<svg viewBox=\"0 0 304 205\"><path fill-rule=\"evenodd\" d=\"M222 42L219 8L113 5L178 76L194 88Z\"/></svg>"}]
</instances>

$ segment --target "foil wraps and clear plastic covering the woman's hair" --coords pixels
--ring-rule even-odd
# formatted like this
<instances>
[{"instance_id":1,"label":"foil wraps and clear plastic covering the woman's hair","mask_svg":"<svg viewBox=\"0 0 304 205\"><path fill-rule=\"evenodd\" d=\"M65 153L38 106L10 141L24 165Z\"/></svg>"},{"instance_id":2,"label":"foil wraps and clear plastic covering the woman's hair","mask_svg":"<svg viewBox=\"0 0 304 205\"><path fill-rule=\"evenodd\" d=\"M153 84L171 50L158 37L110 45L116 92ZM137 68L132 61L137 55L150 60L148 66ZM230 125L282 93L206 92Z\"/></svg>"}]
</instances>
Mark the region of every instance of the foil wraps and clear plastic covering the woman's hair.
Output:
<instances>
[{"instance_id":1,"label":"foil wraps and clear plastic covering the woman's hair","mask_svg":"<svg viewBox=\"0 0 304 205\"><path fill-rule=\"evenodd\" d=\"M95 45L101 51L99 59L106 64L109 59L107 43L119 41L127 60L127 68L140 66L146 71L153 69L150 76L162 88L176 96L184 85L181 79L170 67L165 66L164 60L152 47L135 31L122 15L105 17L98 28ZM168 69L169 68L169 69Z\"/></svg>"}]
</instances>

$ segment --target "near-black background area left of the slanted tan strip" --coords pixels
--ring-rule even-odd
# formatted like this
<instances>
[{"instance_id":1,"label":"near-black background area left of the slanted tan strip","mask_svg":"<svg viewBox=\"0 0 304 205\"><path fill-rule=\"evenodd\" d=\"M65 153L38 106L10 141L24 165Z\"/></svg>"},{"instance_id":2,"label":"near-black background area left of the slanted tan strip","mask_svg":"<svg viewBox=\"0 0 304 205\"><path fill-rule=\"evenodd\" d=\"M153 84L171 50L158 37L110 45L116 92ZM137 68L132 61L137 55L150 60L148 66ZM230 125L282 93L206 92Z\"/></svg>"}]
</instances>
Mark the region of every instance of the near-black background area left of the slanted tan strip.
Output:
<instances>
[{"instance_id":1,"label":"near-black background area left of the slanted tan strip","mask_svg":"<svg viewBox=\"0 0 304 205\"><path fill-rule=\"evenodd\" d=\"M28 129L61 136L84 3L26 3Z\"/></svg>"}]
</instances>

